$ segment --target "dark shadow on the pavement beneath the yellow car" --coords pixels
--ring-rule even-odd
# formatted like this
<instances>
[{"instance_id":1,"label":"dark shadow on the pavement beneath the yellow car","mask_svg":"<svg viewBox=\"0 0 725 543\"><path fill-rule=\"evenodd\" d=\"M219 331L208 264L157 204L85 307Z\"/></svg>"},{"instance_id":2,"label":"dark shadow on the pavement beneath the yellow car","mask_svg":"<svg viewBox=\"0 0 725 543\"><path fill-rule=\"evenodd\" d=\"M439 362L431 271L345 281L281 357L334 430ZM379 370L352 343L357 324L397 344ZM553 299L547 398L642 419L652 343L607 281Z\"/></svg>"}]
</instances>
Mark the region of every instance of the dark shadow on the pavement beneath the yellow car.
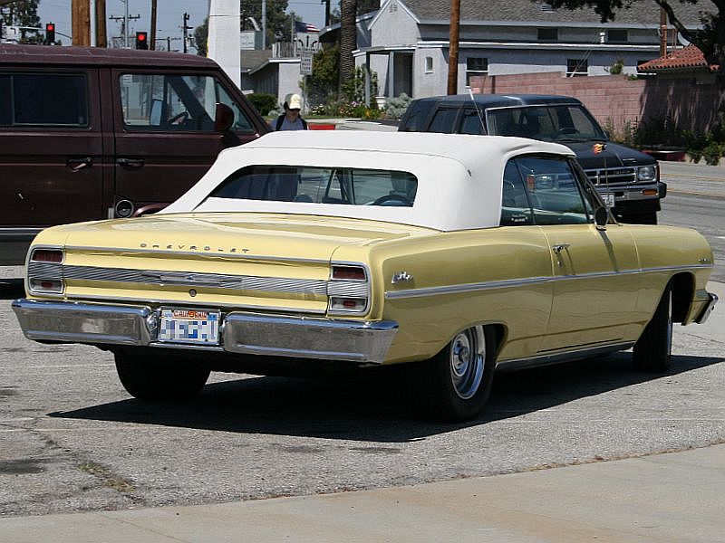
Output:
<instances>
[{"instance_id":1,"label":"dark shadow on the pavement beneath the yellow car","mask_svg":"<svg viewBox=\"0 0 725 543\"><path fill-rule=\"evenodd\" d=\"M355 378L246 377L204 387L179 404L121 400L49 416L234 433L266 433L404 443L468 426L533 413L625 386L721 363L720 357L673 357L665 374L636 371L630 353L578 363L498 373L478 420L441 424L420 420L404 372L374 372Z\"/></svg>"}]
</instances>

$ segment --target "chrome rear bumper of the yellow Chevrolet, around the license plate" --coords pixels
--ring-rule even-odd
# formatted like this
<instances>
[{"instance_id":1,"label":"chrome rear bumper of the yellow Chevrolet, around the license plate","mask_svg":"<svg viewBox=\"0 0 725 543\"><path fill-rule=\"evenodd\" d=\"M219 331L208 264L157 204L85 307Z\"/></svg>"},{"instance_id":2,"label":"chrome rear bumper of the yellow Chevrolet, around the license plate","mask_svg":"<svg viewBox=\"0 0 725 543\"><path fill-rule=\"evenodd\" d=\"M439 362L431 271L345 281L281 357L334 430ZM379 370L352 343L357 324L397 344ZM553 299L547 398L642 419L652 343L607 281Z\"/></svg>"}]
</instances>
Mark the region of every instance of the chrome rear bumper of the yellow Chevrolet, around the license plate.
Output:
<instances>
[{"instance_id":1,"label":"chrome rear bumper of the yellow Chevrolet, around the license plate","mask_svg":"<svg viewBox=\"0 0 725 543\"><path fill-rule=\"evenodd\" d=\"M26 338L36 341L196 348L275 357L322 358L382 364L398 323L226 313L218 346L160 343L158 310L72 301L14 300Z\"/></svg>"}]
</instances>

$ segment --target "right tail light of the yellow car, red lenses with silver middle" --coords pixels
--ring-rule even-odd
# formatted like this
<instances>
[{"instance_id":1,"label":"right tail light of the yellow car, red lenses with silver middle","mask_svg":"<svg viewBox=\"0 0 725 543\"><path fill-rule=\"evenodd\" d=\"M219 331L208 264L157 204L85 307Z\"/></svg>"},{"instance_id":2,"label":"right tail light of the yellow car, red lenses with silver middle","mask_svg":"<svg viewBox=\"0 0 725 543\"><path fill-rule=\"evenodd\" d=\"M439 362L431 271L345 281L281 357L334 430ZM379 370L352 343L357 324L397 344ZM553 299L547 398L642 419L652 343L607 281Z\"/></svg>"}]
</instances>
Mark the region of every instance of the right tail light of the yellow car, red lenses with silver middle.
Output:
<instances>
[{"instance_id":1,"label":"right tail light of the yellow car, red lenses with silver middle","mask_svg":"<svg viewBox=\"0 0 725 543\"><path fill-rule=\"evenodd\" d=\"M370 274L362 265L333 264L327 285L327 311L337 315L362 315L370 304Z\"/></svg>"}]
</instances>

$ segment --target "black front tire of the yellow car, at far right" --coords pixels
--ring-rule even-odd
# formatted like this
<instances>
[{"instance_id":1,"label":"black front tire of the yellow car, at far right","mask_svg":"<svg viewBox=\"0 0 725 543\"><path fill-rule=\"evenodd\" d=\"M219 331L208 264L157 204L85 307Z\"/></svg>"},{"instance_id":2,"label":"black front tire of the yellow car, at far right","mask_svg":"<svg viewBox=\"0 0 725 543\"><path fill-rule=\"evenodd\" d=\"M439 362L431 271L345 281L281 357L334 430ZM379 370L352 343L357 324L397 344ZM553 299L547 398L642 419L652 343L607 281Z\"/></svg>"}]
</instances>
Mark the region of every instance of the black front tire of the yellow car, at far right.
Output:
<instances>
[{"instance_id":1,"label":"black front tire of the yellow car, at far right","mask_svg":"<svg viewBox=\"0 0 725 543\"><path fill-rule=\"evenodd\" d=\"M663 372L672 361L672 283L668 283L642 336L634 344L634 366L645 371Z\"/></svg>"}]
</instances>

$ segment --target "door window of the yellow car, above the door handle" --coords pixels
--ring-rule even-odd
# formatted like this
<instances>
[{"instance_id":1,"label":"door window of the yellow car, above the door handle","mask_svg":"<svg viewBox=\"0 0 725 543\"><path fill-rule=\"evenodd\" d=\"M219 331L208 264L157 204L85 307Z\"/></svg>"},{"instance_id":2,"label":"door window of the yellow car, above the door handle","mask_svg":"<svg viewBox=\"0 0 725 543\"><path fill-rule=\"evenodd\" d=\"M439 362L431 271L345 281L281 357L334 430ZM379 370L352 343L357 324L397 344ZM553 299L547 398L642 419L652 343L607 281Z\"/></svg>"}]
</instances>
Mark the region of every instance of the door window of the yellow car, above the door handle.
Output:
<instances>
[{"instance_id":1,"label":"door window of the yellow car, above the door handle","mask_svg":"<svg viewBox=\"0 0 725 543\"><path fill-rule=\"evenodd\" d=\"M591 205L585 201L574 168L565 159L518 157L536 224L586 224Z\"/></svg>"}]
</instances>

